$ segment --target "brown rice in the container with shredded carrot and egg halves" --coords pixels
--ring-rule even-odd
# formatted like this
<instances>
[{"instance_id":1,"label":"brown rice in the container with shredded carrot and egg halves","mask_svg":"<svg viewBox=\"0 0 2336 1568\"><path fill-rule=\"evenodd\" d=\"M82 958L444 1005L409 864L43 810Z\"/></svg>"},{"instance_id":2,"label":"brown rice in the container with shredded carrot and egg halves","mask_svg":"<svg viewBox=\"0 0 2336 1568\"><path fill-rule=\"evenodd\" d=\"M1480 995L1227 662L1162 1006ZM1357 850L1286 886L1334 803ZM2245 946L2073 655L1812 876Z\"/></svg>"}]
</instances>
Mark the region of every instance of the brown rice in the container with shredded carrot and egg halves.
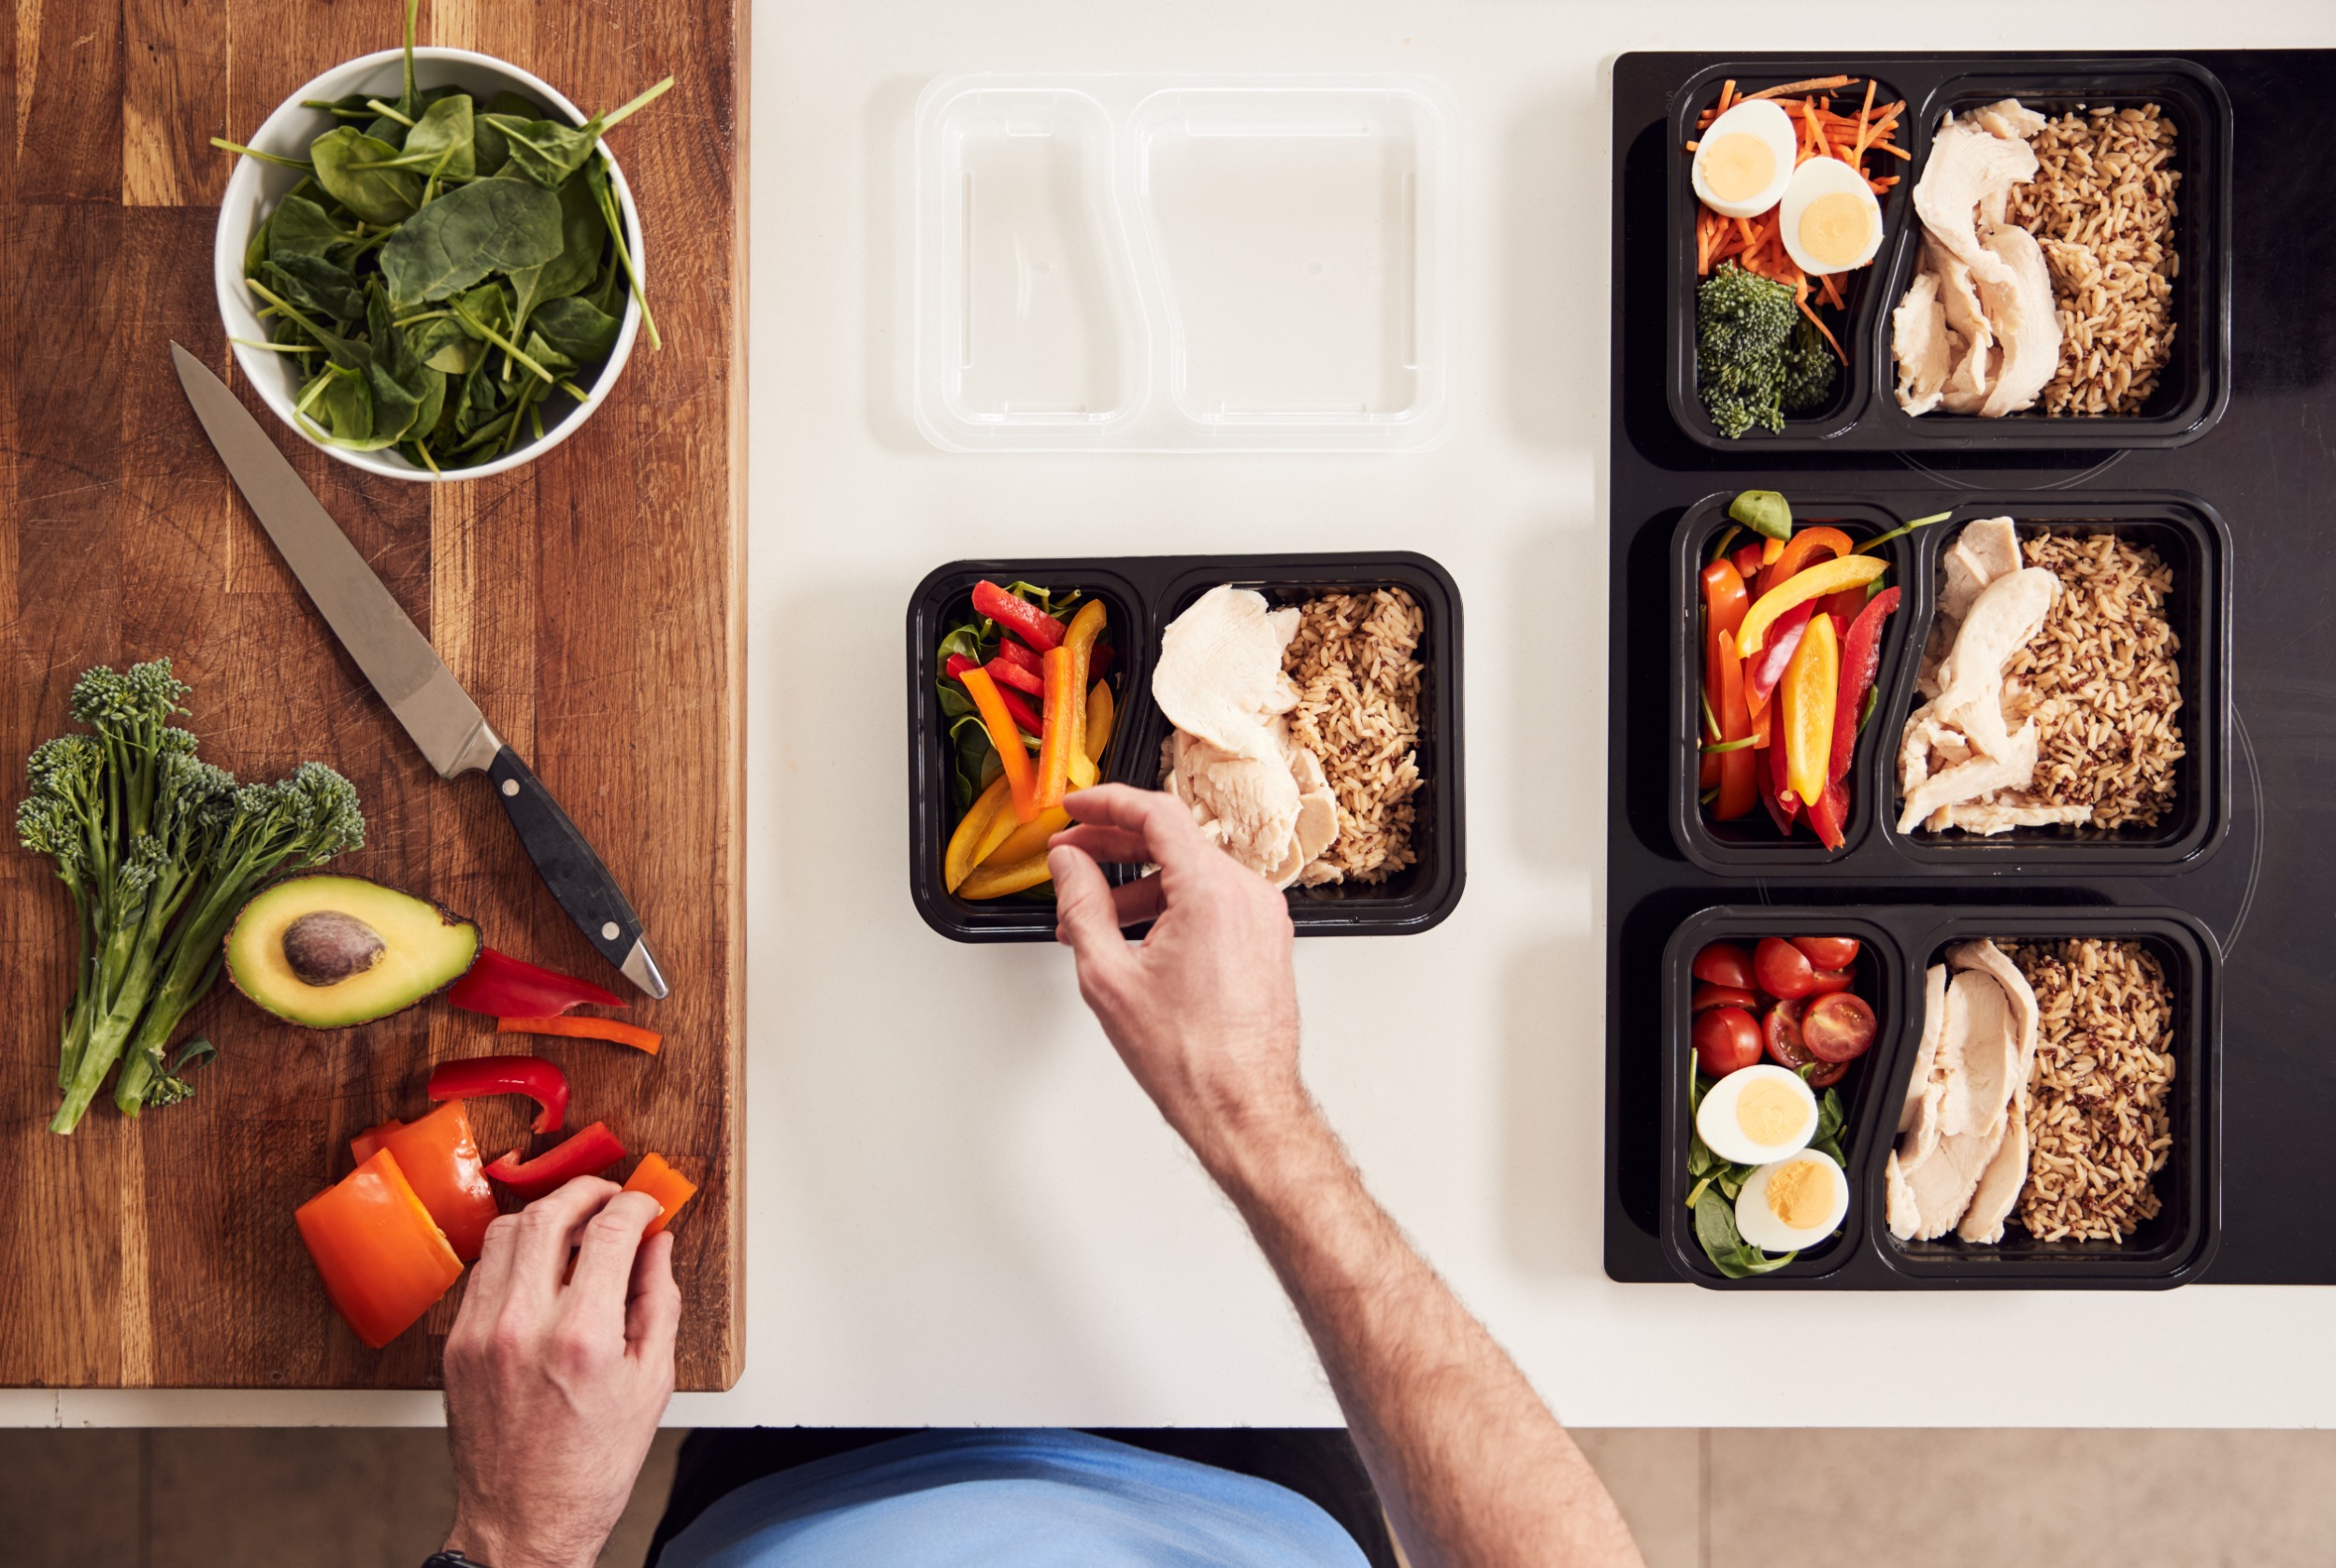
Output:
<instances>
[{"instance_id":1,"label":"brown rice in the container with shredded carrot and egg halves","mask_svg":"<svg viewBox=\"0 0 2336 1568\"><path fill-rule=\"evenodd\" d=\"M2028 145L2037 178L2014 187L2009 217L2042 243L2060 315L2044 414L2140 414L2175 341L2175 122L2154 103L2084 107Z\"/></svg>"}]
</instances>

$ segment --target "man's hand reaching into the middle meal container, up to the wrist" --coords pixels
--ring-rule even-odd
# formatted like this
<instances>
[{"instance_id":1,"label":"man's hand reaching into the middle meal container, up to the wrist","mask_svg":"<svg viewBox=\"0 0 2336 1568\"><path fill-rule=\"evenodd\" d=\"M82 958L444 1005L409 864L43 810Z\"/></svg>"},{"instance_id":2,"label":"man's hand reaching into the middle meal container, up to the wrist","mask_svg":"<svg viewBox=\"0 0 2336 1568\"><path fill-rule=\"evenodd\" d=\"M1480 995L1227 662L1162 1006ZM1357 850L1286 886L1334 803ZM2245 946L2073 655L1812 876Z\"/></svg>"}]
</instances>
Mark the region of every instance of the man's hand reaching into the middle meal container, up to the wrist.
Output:
<instances>
[{"instance_id":1,"label":"man's hand reaching into the middle meal container, up to the wrist","mask_svg":"<svg viewBox=\"0 0 2336 1568\"><path fill-rule=\"evenodd\" d=\"M1168 1124L1224 1180L1315 1124L1299 1082L1289 902L1203 839L1168 795L1103 785L1063 806L1079 825L1054 837L1047 869L1079 995ZM1159 872L1112 888L1098 860ZM1119 935L1135 921L1152 921L1140 946Z\"/></svg>"}]
</instances>

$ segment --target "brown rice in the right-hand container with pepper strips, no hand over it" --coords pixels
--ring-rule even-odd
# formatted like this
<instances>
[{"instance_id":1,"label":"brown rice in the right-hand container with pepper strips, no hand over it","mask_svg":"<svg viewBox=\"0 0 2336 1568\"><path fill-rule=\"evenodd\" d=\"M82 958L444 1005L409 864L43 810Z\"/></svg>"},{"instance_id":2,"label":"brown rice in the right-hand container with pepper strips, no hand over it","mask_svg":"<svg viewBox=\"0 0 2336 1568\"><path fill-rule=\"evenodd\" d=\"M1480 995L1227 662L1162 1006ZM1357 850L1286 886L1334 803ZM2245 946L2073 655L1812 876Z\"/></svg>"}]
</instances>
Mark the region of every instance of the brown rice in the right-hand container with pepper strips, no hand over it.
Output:
<instances>
[{"instance_id":1,"label":"brown rice in the right-hand container with pepper strips, no hand over it","mask_svg":"<svg viewBox=\"0 0 2336 1568\"><path fill-rule=\"evenodd\" d=\"M2023 799L2091 806L2093 827L2156 827L2184 757L2182 638L2165 619L2172 568L2112 530L2051 530L2021 542L2028 566L2060 580L2044 629L2004 675L2037 720L2037 771Z\"/></svg>"}]
</instances>

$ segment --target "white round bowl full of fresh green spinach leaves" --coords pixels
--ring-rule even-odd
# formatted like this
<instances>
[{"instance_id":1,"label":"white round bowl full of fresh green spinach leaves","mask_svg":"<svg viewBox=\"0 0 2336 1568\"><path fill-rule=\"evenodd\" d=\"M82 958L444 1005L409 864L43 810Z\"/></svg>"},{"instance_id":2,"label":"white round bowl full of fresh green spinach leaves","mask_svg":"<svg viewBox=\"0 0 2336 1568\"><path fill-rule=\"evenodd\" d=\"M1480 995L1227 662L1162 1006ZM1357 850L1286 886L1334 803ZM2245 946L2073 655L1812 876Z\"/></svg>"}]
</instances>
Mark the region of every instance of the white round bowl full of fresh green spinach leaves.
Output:
<instances>
[{"instance_id":1,"label":"white round bowl full of fresh green spinach leaves","mask_svg":"<svg viewBox=\"0 0 2336 1568\"><path fill-rule=\"evenodd\" d=\"M640 215L600 133L535 75L470 49L383 49L283 103L220 203L213 273L259 400L334 458L474 479L558 446L640 332Z\"/></svg>"}]
</instances>

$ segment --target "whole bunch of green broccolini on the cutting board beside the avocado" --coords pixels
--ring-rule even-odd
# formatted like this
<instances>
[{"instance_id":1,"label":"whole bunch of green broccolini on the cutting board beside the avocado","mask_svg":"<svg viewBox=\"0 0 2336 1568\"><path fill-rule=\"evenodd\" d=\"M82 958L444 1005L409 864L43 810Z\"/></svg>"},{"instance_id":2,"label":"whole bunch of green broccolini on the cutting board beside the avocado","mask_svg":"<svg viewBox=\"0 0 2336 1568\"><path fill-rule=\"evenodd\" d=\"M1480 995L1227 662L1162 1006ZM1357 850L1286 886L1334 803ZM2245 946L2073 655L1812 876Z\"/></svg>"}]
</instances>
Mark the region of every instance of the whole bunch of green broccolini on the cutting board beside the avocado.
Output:
<instances>
[{"instance_id":1,"label":"whole bunch of green broccolini on the cutting board beside the avocado","mask_svg":"<svg viewBox=\"0 0 2336 1568\"><path fill-rule=\"evenodd\" d=\"M56 1133L79 1124L124 1052L114 1103L138 1115L154 1098L161 1049L217 979L227 928L259 883L364 844L346 778L304 762L283 783L238 785L171 724L182 696L168 659L86 671L72 717L91 734L26 759L16 839L56 860L75 914Z\"/></svg>"}]
</instances>

